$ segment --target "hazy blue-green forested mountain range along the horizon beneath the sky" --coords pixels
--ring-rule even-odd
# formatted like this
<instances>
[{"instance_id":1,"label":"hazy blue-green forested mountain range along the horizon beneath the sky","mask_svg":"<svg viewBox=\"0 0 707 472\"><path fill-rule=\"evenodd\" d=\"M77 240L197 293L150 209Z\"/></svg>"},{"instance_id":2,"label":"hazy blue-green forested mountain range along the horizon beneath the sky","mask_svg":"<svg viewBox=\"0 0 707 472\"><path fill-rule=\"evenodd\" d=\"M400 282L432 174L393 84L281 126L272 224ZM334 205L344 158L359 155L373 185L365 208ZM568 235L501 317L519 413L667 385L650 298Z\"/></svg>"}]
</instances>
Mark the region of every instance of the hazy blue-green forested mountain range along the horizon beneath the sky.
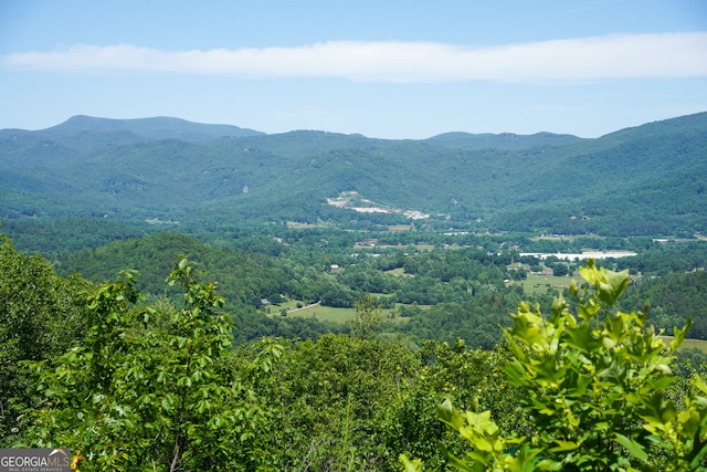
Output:
<instances>
[{"instance_id":1,"label":"hazy blue-green forested mountain range along the horizon beneath the sky","mask_svg":"<svg viewBox=\"0 0 707 472\"><path fill-rule=\"evenodd\" d=\"M705 149L707 113L597 139L422 140L78 116L0 130L0 219L391 224L416 210L419 225L692 234L707 231ZM342 192L389 213L327 204Z\"/></svg>"}]
</instances>

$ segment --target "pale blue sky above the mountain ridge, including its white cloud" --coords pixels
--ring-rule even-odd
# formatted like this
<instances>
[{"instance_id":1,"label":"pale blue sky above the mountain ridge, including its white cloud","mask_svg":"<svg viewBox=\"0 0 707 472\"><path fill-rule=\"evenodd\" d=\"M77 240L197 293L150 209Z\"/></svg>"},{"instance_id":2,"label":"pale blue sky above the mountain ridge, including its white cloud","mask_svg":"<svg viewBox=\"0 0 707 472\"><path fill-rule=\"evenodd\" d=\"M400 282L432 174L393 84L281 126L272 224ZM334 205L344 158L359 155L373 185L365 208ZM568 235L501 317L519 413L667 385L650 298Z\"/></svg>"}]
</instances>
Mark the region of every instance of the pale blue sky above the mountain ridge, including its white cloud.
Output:
<instances>
[{"instance_id":1,"label":"pale blue sky above the mountain ridge, including its white cloud","mask_svg":"<svg viewBox=\"0 0 707 472\"><path fill-rule=\"evenodd\" d=\"M0 0L0 128L597 137L705 111L704 0Z\"/></svg>"}]
</instances>

